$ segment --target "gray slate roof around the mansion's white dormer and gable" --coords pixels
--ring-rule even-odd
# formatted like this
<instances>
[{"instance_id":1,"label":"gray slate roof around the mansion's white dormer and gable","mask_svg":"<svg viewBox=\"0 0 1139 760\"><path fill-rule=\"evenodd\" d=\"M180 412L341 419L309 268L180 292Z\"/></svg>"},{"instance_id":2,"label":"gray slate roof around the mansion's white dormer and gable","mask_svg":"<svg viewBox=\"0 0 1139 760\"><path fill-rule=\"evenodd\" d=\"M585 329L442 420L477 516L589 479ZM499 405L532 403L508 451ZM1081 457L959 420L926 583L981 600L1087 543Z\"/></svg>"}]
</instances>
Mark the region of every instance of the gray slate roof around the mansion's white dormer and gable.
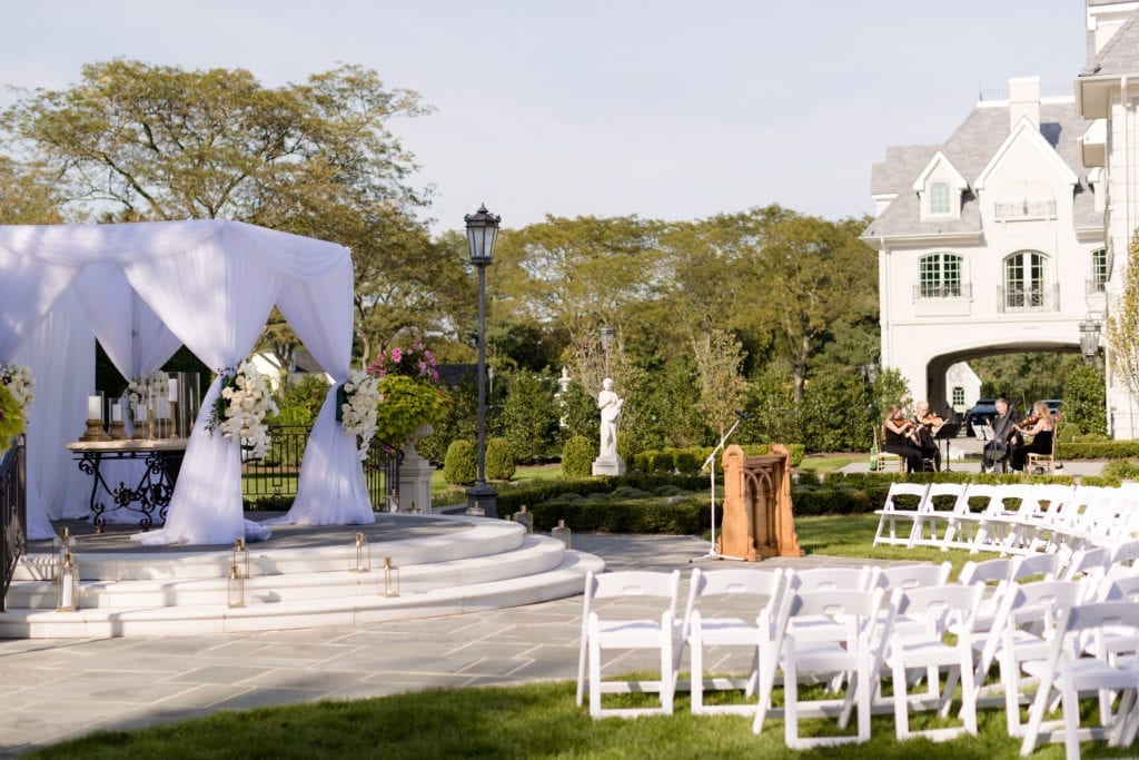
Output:
<instances>
[{"instance_id":1,"label":"gray slate roof around the mansion's white dormer and gable","mask_svg":"<svg viewBox=\"0 0 1139 760\"><path fill-rule=\"evenodd\" d=\"M885 163L894 165L891 167L875 165L871 172L871 193L888 193L891 190L886 188L894 187L898 197L870 223L862 236L876 238L981 232L981 211L972 191L966 190L961 198L960 219L923 221L918 196L911 185L939 148L961 177L972 183L1008 137L1008 106L985 105L974 108L941 146L887 148ZM1041 134L1080 178L1074 207L1076 227L1103 224L1103 214L1095 210L1091 190L1087 183L1087 171L1080 160L1079 140L1090 124L1090 121L1081 119L1076 113L1074 101L1040 106ZM919 148L928 149L925 161L918 161Z\"/></svg>"}]
</instances>

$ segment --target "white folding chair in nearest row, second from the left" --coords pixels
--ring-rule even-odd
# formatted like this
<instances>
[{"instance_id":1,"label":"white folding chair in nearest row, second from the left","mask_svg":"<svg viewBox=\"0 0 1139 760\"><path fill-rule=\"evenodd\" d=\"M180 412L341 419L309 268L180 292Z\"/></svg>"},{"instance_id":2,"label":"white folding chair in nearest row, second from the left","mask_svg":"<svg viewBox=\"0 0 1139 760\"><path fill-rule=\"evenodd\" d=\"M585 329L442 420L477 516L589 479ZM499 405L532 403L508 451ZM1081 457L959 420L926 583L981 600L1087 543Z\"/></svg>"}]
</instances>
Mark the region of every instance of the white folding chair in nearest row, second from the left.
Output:
<instances>
[{"instance_id":1,"label":"white folding chair in nearest row, second from the left","mask_svg":"<svg viewBox=\"0 0 1139 760\"><path fill-rule=\"evenodd\" d=\"M759 678L759 638L761 621L753 616L762 611L777 610L784 602L786 577L781 569L757 570L732 567L726 570L693 570L688 604L680 626L680 647L677 670L687 644L691 660L691 710L696 714L736 713L752 714L753 704L705 705L705 689L745 689L754 694ZM746 604L747 619L722 615L716 607L727 606L729 599L738 608ZM746 679L704 677L706 647L747 647L752 655L751 673ZM679 685L678 685L679 687Z\"/></svg>"}]
</instances>

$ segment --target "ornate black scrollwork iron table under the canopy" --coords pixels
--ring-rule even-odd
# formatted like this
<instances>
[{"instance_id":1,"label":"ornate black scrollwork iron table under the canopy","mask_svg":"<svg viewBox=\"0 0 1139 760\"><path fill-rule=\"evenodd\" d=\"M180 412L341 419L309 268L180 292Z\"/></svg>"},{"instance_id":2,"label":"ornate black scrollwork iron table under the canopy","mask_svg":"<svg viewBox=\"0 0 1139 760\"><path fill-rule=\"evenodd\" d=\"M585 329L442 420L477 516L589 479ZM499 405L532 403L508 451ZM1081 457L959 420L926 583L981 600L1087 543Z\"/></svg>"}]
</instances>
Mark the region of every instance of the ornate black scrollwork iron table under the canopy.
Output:
<instances>
[{"instance_id":1,"label":"ornate black scrollwork iron table under the canopy","mask_svg":"<svg viewBox=\"0 0 1139 760\"><path fill-rule=\"evenodd\" d=\"M107 514L125 509L139 515L139 526L147 529L166 520L166 508L174 493L182 467L187 439L75 441L67 448L75 455L81 472L91 475L91 515L100 529ZM142 466L131 482L108 482L100 468L104 461L137 460ZM137 479L137 480L136 480ZM137 484L132 484L137 483Z\"/></svg>"}]
</instances>

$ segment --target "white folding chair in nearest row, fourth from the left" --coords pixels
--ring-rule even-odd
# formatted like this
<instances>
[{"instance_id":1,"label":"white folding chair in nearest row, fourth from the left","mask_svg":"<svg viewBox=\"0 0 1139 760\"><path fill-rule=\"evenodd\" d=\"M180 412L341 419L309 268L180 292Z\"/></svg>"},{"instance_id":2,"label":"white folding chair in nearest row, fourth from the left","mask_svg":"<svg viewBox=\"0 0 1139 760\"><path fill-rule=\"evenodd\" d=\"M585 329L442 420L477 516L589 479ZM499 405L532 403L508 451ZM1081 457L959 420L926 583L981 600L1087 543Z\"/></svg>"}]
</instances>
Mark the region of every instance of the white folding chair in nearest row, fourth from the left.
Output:
<instances>
[{"instance_id":1,"label":"white folding chair in nearest row, fourth from the left","mask_svg":"<svg viewBox=\"0 0 1139 760\"><path fill-rule=\"evenodd\" d=\"M925 736L939 742L954 738L962 733L977 733L969 631L983 591L981 586L926 586L895 593L898 614L925 623L924 630L910 634L895 629L890 639L886 663L892 672L894 730L898 741L910 736ZM949 632L957 634L954 644L945 644L942 640ZM907 693L907 671L911 668L926 670L928 679L926 694L911 696ZM947 669L944 687L941 686L940 677L942 668ZM959 680L960 716L964 725L911 732L909 722L911 709L935 706L943 718L949 714Z\"/></svg>"}]
</instances>

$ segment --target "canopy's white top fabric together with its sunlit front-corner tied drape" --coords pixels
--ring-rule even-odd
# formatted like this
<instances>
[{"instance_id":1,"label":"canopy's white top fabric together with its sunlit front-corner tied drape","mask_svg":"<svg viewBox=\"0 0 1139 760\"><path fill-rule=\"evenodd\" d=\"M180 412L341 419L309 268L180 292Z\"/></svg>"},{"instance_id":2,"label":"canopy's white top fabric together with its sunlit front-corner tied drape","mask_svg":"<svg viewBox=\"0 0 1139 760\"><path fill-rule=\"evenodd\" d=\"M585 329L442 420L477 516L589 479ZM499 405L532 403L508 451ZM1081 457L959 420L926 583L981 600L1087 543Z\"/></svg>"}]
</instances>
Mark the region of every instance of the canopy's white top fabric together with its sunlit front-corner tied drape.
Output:
<instances>
[{"instance_id":1,"label":"canopy's white top fabric together with its sunlit front-corner tied drape","mask_svg":"<svg viewBox=\"0 0 1139 760\"><path fill-rule=\"evenodd\" d=\"M0 227L0 361L9 359L79 272L93 264L121 268L170 333L215 369L233 366L249 352L284 280L346 276L345 301L351 300L346 248L241 222ZM113 273L92 275L99 277L114 279ZM319 299L309 307L300 304L289 307L293 317L305 308L320 311L326 305ZM319 335L319 324L316 320L306 332ZM309 345L314 354L323 351L317 343L319 338L313 338ZM125 365L123 350L115 351L116 366ZM334 354L328 367L341 362ZM132 369L134 361L132 353ZM138 361L142 366L149 360ZM218 395L214 383L203 399L166 526L142 534L147 544L229 544L245 532L238 447L205 431Z\"/></svg>"}]
</instances>

